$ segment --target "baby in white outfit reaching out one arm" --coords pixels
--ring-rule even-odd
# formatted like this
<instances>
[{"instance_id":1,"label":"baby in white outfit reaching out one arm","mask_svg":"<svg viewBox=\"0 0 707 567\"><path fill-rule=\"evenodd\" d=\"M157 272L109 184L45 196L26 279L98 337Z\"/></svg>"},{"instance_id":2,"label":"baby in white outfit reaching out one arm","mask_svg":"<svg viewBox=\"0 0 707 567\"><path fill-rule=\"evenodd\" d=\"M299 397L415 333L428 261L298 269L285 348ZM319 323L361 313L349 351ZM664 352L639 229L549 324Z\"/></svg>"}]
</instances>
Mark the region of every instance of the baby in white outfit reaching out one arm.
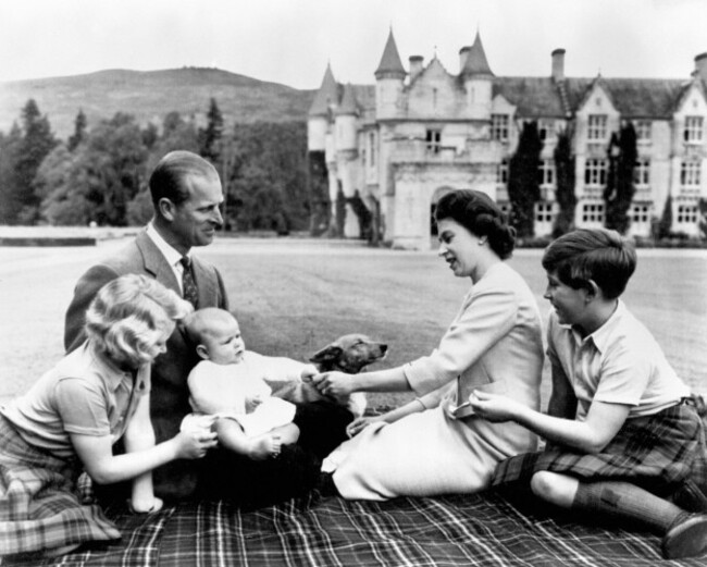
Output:
<instances>
[{"instance_id":1,"label":"baby in white outfit reaching out one arm","mask_svg":"<svg viewBox=\"0 0 707 567\"><path fill-rule=\"evenodd\" d=\"M183 428L198 422L199 415L218 416L221 445L255 460L276 457L283 444L295 443L296 406L273 397L266 380L299 381L315 374L317 368L246 350L238 322L223 309L195 311L185 328L202 360L189 373L195 415L185 418Z\"/></svg>"}]
</instances>

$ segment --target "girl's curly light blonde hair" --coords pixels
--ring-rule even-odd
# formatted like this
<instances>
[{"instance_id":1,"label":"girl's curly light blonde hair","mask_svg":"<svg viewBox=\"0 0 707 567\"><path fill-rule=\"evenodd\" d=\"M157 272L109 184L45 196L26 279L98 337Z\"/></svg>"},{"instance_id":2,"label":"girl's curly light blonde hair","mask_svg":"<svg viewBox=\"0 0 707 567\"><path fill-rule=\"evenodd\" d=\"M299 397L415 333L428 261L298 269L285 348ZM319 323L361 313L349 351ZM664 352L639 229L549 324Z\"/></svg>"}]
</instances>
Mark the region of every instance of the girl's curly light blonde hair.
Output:
<instances>
[{"instance_id":1,"label":"girl's curly light blonde hair","mask_svg":"<svg viewBox=\"0 0 707 567\"><path fill-rule=\"evenodd\" d=\"M157 280L126 274L107 283L91 301L86 335L119 366L137 368L160 354L160 338L191 310Z\"/></svg>"}]
</instances>

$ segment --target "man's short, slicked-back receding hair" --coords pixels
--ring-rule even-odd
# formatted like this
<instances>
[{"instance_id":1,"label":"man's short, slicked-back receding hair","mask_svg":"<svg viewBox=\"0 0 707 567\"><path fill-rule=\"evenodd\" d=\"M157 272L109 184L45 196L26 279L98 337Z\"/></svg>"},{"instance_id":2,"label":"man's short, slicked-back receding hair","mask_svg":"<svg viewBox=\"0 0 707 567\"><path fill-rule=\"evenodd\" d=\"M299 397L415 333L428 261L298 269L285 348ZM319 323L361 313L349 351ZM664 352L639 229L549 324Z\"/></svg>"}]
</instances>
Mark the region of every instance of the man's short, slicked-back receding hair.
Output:
<instances>
[{"instance_id":1,"label":"man's short, slicked-back receding hair","mask_svg":"<svg viewBox=\"0 0 707 567\"><path fill-rule=\"evenodd\" d=\"M219 178L216 169L201 156L191 151L176 150L164 156L150 175L150 195L154 209L160 199L168 198L181 205L189 198L184 181L188 176Z\"/></svg>"}]
</instances>

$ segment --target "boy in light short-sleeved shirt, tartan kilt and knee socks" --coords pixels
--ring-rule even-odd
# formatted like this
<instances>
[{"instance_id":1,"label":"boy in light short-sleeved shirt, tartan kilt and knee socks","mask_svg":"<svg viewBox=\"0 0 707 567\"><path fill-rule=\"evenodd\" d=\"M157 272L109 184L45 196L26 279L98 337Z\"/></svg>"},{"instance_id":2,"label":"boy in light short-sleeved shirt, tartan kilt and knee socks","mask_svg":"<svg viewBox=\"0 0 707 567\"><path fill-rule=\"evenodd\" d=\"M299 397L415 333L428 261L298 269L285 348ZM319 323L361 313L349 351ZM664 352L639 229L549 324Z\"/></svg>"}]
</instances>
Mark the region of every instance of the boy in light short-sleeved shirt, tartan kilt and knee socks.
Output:
<instances>
[{"instance_id":1,"label":"boy in light short-sleeved shirt, tartan kilt and knee socks","mask_svg":"<svg viewBox=\"0 0 707 567\"><path fill-rule=\"evenodd\" d=\"M547 415L483 392L470 403L482 418L547 440L542 453L501 461L492 484L530 482L557 506L652 529L666 558L696 556L707 551L707 498L695 483L705 433L690 390L619 299L635 266L615 231L582 229L551 243L543 256L554 308Z\"/></svg>"}]
</instances>

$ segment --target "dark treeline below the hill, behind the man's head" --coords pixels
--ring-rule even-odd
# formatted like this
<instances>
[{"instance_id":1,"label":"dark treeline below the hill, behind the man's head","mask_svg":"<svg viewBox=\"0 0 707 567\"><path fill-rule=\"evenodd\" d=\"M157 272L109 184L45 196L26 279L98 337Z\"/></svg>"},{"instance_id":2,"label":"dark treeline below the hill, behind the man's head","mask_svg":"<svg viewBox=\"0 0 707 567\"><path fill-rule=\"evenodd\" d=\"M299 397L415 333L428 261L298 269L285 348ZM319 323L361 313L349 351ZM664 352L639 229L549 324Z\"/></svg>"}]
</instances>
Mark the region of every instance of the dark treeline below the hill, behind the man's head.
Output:
<instances>
[{"instance_id":1,"label":"dark treeline below the hill, behind the man's head","mask_svg":"<svg viewBox=\"0 0 707 567\"><path fill-rule=\"evenodd\" d=\"M206 127L178 112L147 126L119 112L89 127L78 111L73 134L61 140L30 99L18 123L0 132L0 224L145 224L152 213L149 174L175 149L216 167L230 230L307 230L310 210L321 207L308 189L305 122L236 124L225 132L211 99Z\"/></svg>"}]
</instances>

